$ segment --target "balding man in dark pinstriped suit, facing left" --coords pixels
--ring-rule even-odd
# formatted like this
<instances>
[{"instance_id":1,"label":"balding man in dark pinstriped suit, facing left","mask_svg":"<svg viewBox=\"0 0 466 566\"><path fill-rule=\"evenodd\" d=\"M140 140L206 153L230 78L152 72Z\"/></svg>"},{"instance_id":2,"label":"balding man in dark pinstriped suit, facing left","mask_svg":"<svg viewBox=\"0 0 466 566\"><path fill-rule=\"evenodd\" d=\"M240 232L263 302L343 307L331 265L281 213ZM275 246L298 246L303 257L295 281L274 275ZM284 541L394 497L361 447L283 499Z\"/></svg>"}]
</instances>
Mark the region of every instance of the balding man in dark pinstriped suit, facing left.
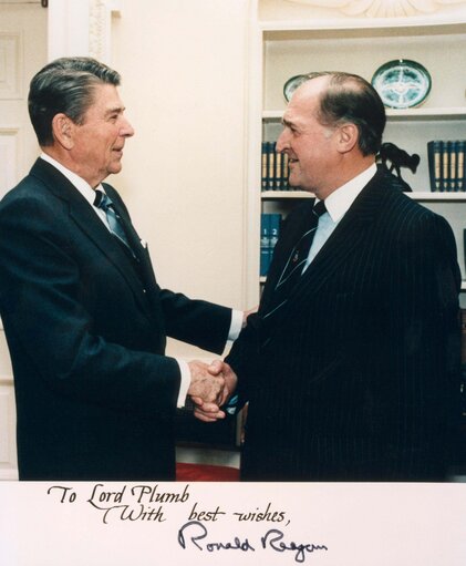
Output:
<instances>
[{"instance_id":1,"label":"balding man in dark pinstriped suit, facing left","mask_svg":"<svg viewBox=\"0 0 466 566\"><path fill-rule=\"evenodd\" d=\"M459 394L455 239L377 169L384 125L377 93L346 73L310 75L284 113L290 184L320 203L287 218L259 311L226 360L249 401L242 480L445 477Z\"/></svg>"}]
</instances>

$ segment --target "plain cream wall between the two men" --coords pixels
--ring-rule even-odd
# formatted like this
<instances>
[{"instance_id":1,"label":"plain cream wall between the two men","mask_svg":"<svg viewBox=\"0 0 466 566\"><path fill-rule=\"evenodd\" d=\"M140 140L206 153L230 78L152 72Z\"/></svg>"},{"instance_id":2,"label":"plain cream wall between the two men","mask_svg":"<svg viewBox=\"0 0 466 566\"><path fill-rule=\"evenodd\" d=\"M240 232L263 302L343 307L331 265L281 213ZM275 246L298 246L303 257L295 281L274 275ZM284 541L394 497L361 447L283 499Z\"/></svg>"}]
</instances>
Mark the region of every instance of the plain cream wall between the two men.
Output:
<instances>
[{"instance_id":1,"label":"plain cream wall between the two men","mask_svg":"<svg viewBox=\"0 0 466 566\"><path fill-rule=\"evenodd\" d=\"M159 284L236 308L245 307L248 6L122 0L112 29L136 135L110 182L148 241Z\"/></svg>"}]
</instances>

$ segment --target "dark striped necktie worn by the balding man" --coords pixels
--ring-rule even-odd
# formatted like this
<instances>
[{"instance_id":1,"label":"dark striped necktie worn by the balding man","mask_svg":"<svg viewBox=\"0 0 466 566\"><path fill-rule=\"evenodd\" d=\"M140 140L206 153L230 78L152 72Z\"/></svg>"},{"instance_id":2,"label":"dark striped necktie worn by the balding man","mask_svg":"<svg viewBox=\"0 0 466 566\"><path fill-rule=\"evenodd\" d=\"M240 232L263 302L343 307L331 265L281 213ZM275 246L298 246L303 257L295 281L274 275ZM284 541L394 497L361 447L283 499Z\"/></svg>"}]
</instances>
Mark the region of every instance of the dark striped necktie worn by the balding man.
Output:
<instances>
[{"instance_id":1,"label":"dark striped necktie worn by the balding man","mask_svg":"<svg viewBox=\"0 0 466 566\"><path fill-rule=\"evenodd\" d=\"M304 234L300 237L299 241L291 250L288 261L283 268L283 271L281 272L281 276L276 285L271 305L269 306L267 313L263 316L265 319L271 317L283 305L286 305L289 296L291 295L291 291L297 286L302 275L306 261L308 259L312 240L314 239L315 236L319 218L325 212L327 208L323 200L319 200L319 203L317 203L315 206L312 208L312 214L310 215L309 223L306 227Z\"/></svg>"}]
</instances>

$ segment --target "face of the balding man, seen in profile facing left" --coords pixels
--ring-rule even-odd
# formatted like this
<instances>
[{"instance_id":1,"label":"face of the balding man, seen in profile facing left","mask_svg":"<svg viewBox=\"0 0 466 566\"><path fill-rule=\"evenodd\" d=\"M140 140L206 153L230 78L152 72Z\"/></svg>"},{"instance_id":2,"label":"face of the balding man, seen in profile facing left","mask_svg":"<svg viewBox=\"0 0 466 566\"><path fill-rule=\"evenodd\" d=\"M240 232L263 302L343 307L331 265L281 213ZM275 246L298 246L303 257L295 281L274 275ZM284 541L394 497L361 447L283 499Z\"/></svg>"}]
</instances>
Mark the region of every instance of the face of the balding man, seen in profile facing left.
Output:
<instances>
[{"instance_id":1,"label":"face of the balding man, seen in profile facing left","mask_svg":"<svg viewBox=\"0 0 466 566\"><path fill-rule=\"evenodd\" d=\"M289 157L290 185L313 192L320 198L334 188L332 183L339 162L336 130L317 120L319 95L325 84L327 78L318 78L296 91L277 141L277 151Z\"/></svg>"}]
</instances>

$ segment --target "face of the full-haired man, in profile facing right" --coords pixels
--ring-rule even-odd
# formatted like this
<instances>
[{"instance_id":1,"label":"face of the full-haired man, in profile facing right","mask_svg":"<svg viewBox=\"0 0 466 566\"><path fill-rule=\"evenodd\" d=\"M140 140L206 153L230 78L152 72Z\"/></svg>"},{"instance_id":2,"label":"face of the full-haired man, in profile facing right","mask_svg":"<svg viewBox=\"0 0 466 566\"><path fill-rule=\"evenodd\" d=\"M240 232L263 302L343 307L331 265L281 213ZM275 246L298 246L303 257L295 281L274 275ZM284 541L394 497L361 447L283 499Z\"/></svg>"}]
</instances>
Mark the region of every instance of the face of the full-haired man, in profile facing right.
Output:
<instances>
[{"instance_id":1,"label":"face of the full-haired man, in profile facing right","mask_svg":"<svg viewBox=\"0 0 466 566\"><path fill-rule=\"evenodd\" d=\"M74 127L72 158L77 174L95 187L111 173L120 173L123 147L132 135L116 86L96 86L83 124Z\"/></svg>"}]
</instances>

